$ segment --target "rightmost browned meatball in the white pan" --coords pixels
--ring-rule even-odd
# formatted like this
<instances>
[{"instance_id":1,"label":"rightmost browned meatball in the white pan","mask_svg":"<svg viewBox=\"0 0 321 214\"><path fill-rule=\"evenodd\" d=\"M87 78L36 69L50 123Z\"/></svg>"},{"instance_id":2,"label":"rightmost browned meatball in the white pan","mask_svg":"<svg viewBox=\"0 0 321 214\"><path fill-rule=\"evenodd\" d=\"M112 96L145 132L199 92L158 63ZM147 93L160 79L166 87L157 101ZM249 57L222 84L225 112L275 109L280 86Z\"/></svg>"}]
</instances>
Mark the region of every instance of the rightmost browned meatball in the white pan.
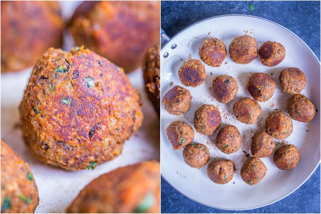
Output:
<instances>
[{"instance_id":1,"label":"rightmost browned meatball in the white pan","mask_svg":"<svg viewBox=\"0 0 321 214\"><path fill-rule=\"evenodd\" d=\"M293 95L288 101L288 111L293 120L310 122L316 115L317 108L302 94Z\"/></svg>"}]
</instances>

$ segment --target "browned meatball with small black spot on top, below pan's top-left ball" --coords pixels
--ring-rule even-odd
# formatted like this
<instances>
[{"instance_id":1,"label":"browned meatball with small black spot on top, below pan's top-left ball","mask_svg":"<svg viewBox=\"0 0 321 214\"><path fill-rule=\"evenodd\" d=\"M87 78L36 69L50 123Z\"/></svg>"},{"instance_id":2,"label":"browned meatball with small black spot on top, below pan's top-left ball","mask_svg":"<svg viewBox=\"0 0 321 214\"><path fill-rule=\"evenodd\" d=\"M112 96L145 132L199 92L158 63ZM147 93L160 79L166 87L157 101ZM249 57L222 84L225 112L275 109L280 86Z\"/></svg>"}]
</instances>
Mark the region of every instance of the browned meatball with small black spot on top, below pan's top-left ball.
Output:
<instances>
[{"instance_id":1,"label":"browned meatball with small black spot on top, below pan's top-left ball","mask_svg":"<svg viewBox=\"0 0 321 214\"><path fill-rule=\"evenodd\" d=\"M233 101L238 90L238 83L231 76L221 75L213 79L213 93L216 100L220 103Z\"/></svg>"}]
</instances>

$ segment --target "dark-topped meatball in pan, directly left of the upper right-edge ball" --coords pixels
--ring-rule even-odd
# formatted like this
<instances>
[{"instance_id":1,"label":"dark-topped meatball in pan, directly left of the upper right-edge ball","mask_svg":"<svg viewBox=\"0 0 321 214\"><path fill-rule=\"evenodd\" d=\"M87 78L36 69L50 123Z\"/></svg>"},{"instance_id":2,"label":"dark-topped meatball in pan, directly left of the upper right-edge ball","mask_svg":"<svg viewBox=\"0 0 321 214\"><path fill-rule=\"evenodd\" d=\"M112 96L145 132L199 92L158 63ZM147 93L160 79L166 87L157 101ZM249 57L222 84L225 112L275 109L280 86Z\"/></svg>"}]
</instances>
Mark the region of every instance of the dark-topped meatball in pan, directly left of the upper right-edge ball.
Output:
<instances>
[{"instance_id":1,"label":"dark-topped meatball in pan, directly left of the upper right-edge ball","mask_svg":"<svg viewBox=\"0 0 321 214\"><path fill-rule=\"evenodd\" d=\"M248 80L246 88L255 100L265 102L273 96L276 83L265 73L254 73Z\"/></svg>"}]
</instances>

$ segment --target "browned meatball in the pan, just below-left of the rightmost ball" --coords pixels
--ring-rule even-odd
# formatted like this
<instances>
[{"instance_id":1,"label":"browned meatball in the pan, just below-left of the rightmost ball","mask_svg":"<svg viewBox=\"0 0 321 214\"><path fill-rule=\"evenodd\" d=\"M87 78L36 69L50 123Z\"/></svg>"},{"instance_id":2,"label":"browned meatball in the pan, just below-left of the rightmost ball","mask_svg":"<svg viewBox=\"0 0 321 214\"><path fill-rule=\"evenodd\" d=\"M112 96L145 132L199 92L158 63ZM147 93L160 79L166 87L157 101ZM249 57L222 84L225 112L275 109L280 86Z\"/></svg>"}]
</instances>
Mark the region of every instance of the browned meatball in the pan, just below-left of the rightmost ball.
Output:
<instances>
[{"instance_id":1,"label":"browned meatball in the pan, just below-left of the rightmost ball","mask_svg":"<svg viewBox=\"0 0 321 214\"><path fill-rule=\"evenodd\" d=\"M292 133L291 118L281 111L275 111L265 121L265 131L278 140L283 140Z\"/></svg>"}]
</instances>

